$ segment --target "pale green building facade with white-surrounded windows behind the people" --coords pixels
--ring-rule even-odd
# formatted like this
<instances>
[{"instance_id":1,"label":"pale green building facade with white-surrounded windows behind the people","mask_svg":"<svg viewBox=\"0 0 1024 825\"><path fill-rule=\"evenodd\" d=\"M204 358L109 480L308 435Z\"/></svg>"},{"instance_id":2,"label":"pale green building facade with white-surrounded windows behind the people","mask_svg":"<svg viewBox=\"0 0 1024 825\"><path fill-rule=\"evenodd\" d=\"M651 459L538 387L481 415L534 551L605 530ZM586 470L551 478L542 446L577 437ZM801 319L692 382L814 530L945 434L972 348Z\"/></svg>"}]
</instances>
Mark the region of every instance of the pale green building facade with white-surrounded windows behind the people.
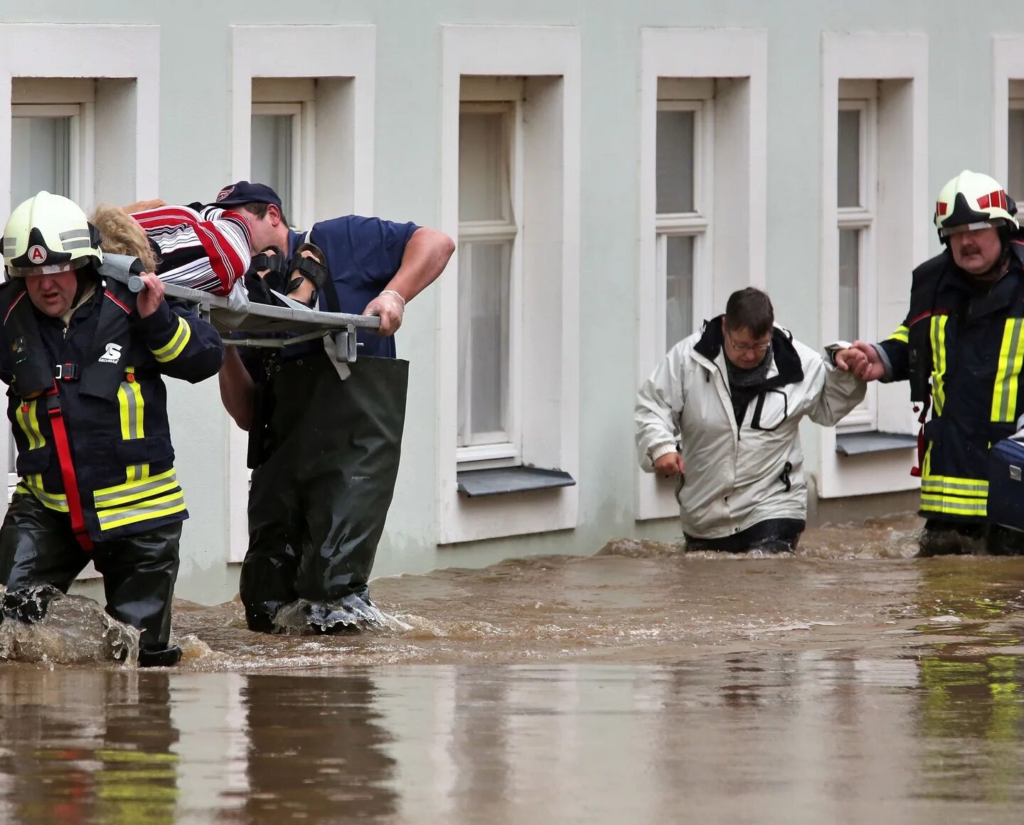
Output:
<instances>
[{"instance_id":1,"label":"pale green building facade with white-surrounded windows behind the people","mask_svg":"<svg viewBox=\"0 0 1024 825\"><path fill-rule=\"evenodd\" d=\"M637 387L748 285L811 345L895 329L938 250L939 186L969 168L1024 192L1016 10L7 0L0 191L88 209L248 178L301 227L357 212L449 232L398 334L409 414L376 572L671 539L673 492L636 467ZM216 382L171 404L178 595L221 601L247 540L244 435ZM814 495L885 509L916 486L913 432L905 385L872 386L805 432ZM531 489L479 494L495 484Z\"/></svg>"}]
</instances>

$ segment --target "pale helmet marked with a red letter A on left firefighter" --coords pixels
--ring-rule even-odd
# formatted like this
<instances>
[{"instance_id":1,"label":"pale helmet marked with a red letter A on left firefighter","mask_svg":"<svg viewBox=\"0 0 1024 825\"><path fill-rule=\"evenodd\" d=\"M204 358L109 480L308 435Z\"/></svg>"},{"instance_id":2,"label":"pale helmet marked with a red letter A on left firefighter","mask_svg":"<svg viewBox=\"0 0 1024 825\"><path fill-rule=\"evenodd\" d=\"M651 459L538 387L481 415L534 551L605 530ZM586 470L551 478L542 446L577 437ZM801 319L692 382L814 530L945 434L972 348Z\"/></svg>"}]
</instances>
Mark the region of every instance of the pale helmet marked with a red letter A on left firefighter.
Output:
<instances>
[{"instance_id":1,"label":"pale helmet marked with a red letter A on left firefighter","mask_svg":"<svg viewBox=\"0 0 1024 825\"><path fill-rule=\"evenodd\" d=\"M3 262L10 276L68 272L102 261L99 232L74 201L41 191L7 219Z\"/></svg>"}]
</instances>

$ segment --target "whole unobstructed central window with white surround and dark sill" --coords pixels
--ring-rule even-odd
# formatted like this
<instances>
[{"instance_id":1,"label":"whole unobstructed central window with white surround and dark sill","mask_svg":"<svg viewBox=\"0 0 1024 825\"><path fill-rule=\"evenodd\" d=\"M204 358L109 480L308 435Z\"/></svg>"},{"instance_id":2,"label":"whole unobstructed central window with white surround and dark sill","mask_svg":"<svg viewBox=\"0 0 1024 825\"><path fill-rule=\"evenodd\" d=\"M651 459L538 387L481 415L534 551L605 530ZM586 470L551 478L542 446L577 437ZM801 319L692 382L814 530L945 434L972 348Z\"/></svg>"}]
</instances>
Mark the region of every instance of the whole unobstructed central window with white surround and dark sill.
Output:
<instances>
[{"instance_id":1,"label":"whole unobstructed central window with white surround and dark sill","mask_svg":"<svg viewBox=\"0 0 1024 825\"><path fill-rule=\"evenodd\" d=\"M574 527L579 33L445 26L442 44L438 544Z\"/></svg>"}]
</instances>

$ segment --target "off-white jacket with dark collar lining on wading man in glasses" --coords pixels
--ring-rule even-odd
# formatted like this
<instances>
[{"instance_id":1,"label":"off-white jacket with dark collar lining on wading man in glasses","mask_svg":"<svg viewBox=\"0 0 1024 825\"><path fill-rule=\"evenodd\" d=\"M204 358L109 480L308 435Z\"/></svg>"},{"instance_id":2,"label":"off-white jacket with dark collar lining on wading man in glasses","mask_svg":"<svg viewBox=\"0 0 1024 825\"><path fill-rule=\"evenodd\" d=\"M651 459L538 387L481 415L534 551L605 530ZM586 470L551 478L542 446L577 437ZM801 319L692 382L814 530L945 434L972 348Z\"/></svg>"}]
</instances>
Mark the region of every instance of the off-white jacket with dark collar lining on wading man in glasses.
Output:
<instances>
[{"instance_id":1,"label":"off-white jacket with dark collar lining on wading man in glasses","mask_svg":"<svg viewBox=\"0 0 1024 825\"><path fill-rule=\"evenodd\" d=\"M636 404L640 467L653 472L653 462L679 445L683 532L699 538L723 538L768 519L806 519L800 421L808 416L831 426L866 389L776 327L772 364L737 426L721 317L669 351Z\"/></svg>"}]
</instances>

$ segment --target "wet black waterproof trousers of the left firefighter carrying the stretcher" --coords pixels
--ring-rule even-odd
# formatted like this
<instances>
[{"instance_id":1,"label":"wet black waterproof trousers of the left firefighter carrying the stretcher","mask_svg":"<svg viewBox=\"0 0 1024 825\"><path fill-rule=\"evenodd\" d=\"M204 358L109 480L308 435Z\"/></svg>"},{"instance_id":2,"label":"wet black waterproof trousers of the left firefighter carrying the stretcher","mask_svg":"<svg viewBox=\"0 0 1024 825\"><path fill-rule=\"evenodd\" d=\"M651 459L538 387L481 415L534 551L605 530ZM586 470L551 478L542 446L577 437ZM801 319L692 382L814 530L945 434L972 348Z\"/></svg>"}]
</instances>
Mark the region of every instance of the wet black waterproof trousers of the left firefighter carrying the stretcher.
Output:
<instances>
[{"instance_id":1,"label":"wet black waterproof trousers of the left firefighter carrying the stretcher","mask_svg":"<svg viewBox=\"0 0 1024 825\"><path fill-rule=\"evenodd\" d=\"M106 612L141 631L139 664L175 664L181 651L169 642L180 538L179 521L99 541L86 552L75 538L68 514L44 507L34 495L17 493L0 527L0 581L7 585L4 613L22 620L42 618L46 597L27 598L30 591L38 594L42 588L45 594L43 585L49 585L67 593L91 561L103 576Z\"/></svg>"}]
</instances>

